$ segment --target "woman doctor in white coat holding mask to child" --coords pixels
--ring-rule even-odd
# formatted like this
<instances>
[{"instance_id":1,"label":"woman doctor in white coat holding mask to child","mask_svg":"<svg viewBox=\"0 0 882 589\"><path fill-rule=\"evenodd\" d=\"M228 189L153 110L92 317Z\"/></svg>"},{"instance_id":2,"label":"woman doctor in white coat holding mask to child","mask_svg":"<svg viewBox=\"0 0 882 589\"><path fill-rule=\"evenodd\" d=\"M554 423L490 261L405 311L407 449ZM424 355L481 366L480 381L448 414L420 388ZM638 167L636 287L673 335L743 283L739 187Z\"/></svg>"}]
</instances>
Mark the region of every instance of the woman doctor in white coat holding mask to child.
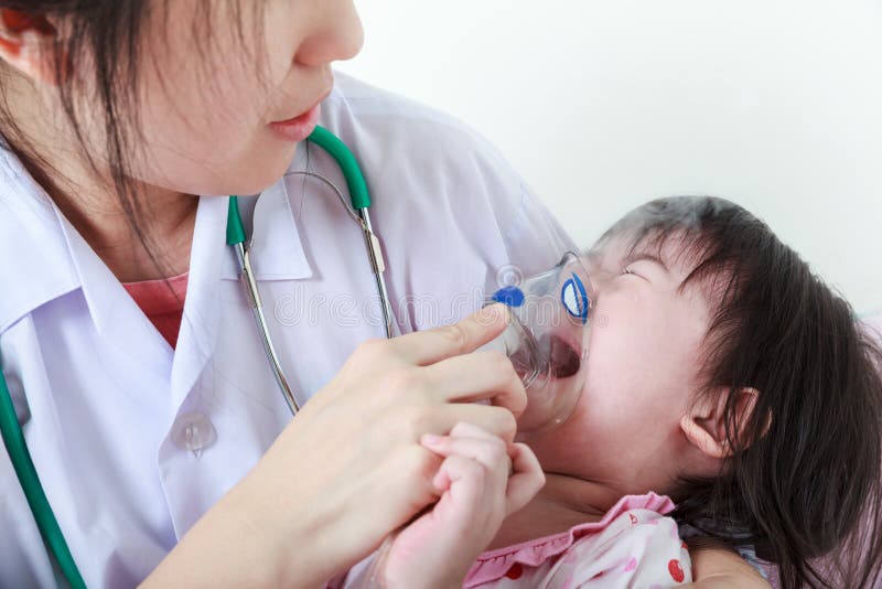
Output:
<instances>
[{"instance_id":1,"label":"woman doctor in white coat holding mask to child","mask_svg":"<svg viewBox=\"0 0 882 589\"><path fill-rule=\"evenodd\" d=\"M466 127L334 81L361 44L346 0L0 0L2 371L88 586L319 586L433 500L420 435L512 438L510 363L466 354L505 318L466 315L572 244ZM345 186L300 141L316 105L366 172L396 328L455 326L383 340L359 228L291 174ZM225 245L228 194L254 195L294 420ZM0 528L0 586L55 585L4 451Z\"/></svg>"}]
</instances>

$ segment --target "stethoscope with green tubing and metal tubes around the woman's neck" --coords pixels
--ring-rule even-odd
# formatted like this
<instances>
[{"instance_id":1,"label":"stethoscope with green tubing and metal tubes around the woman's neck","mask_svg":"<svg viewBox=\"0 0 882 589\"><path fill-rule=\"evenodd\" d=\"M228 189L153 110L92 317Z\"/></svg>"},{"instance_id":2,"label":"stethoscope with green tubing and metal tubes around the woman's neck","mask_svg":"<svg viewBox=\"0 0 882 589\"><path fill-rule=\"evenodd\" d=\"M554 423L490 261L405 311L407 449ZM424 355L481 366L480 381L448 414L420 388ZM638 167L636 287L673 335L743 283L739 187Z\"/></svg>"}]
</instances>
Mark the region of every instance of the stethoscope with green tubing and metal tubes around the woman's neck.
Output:
<instances>
[{"instance_id":1,"label":"stethoscope with green tubing and metal tubes around the woman's neck","mask_svg":"<svg viewBox=\"0 0 882 589\"><path fill-rule=\"evenodd\" d=\"M299 174L315 178L333 189L340 202L348 212L349 216L355 219L362 227L365 238L365 247L370 260L370 268L374 272L377 292L379 293L383 318L385 322L386 336L392 338L395 329L391 320L391 307L389 304L389 297L386 290L386 282L383 278L385 270L385 263L383 259L383 251L380 250L379 239L370 224L370 215L368 208L370 207L370 196L367 192L367 183L365 182L364 174L362 173L358 162L355 160L352 151L346 144L340 140L334 133L322 127L316 127L310 135L308 140L327 151L331 157L336 160L340 169L343 172L343 178L346 180L347 189L349 191L349 200L352 208L346 204L341 190L329 179L315 172L292 172L289 175ZM269 361L272 374L279 385L279 389L284 396L288 407L291 409L292 415L297 415L300 410L294 395L291 390L288 379L284 376L281 364L279 362L276 347L272 345L272 339L267 328L266 317L263 315L263 306L260 300L260 292L255 281L254 271L251 269L251 261L249 256L249 248L245 235L245 227L239 215L238 199L235 195L229 196L229 211L227 213L227 245L232 246L236 251L236 259L239 265L240 278L245 283L246 292L248 294L248 302L254 312L257 329L260 332L260 340L263 344L267 360ZM28 504L31 507L31 513L36 521L40 529L40 535L43 542L49 547L49 551L55 557L62 575L67 579L71 587L85 588L86 583L79 574L79 569L74 563L71 555L71 549L67 546L64 535L62 534L55 514L49 504L46 494L43 486L40 484L40 476L36 474L31 453L28 450L28 445L24 441L24 433L22 432L19 418L15 415L15 407L12 405L12 397L7 386L6 377L0 370L0 432L3 437L3 443L7 447L7 452L15 470L15 475L19 479L24 496L28 499Z\"/></svg>"}]
</instances>

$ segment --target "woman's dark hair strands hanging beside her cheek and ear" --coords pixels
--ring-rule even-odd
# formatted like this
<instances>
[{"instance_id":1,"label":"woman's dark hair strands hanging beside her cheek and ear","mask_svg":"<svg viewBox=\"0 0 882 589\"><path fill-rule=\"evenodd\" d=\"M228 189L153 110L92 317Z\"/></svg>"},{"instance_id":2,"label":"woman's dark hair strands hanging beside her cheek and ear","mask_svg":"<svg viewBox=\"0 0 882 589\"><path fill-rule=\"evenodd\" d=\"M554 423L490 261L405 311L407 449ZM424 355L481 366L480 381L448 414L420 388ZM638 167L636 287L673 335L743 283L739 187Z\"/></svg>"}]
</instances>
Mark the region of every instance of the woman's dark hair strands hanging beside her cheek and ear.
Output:
<instances>
[{"instance_id":1,"label":"woman's dark hair strands hanging beside her cheek and ear","mask_svg":"<svg viewBox=\"0 0 882 589\"><path fill-rule=\"evenodd\" d=\"M55 18L64 22L63 35L57 35L52 47L55 84L65 116L79 142L80 153L87 167L98 174L100 168L115 190L121 208L129 224L150 255L153 264L162 271L162 264L153 255L159 251L152 243L149 232L142 229L141 221L149 219L149 207L138 199L138 183L131 178L131 162L140 156L142 144L141 121L138 117L139 74L144 58L151 58L150 45L143 43L144 23L153 15L168 17L170 0L0 0L0 10L9 9L35 19L40 28L52 28L52 24L40 21L41 18ZM198 0L194 4L195 15L192 31L192 49L206 63L212 54L213 14L227 10L232 14L229 22L240 43L243 60L254 64L258 73L258 82L262 81L263 55L255 51L255 40L263 36L262 18L254 19L252 30L243 30L244 10L262 9L260 0ZM244 8L245 7L245 8ZM169 29L164 20L151 35L151 43L166 41L163 32ZM147 54L144 50L147 49ZM90 71L84 72L80 64L90 64ZM61 192L54 176L60 172L40 153L15 121L15 113L9 105L8 88L4 83L3 68L0 61L0 136L9 151L18 157L28 168L34 180L44 186L50 194ZM73 75L69 73L74 72ZM161 68L158 69L162 83ZM212 92L213 81L204 75L206 92ZM163 83L164 86L164 83ZM174 88L165 87L173 93ZM92 146L86 144L82 127L82 106L100 105L104 119L104 141L107 161L98 162L93 156ZM0 149L3 146L0 143Z\"/></svg>"}]
</instances>

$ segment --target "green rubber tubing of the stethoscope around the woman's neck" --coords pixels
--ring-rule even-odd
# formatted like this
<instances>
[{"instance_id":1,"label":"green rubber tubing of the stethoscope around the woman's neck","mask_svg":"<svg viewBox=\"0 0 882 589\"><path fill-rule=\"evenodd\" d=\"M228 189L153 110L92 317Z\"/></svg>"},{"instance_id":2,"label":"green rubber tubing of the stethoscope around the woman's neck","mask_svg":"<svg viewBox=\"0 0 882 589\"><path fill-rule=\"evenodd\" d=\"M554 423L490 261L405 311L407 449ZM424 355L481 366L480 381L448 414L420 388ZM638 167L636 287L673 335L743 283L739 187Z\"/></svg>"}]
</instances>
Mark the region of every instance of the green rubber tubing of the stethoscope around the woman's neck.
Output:
<instances>
[{"instance_id":1,"label":"green rubber tubing of the stethoscope around the woman's neck","mask_svg":"<svg viewBox=\"0 0 882 589\"><path fill-rule=\"evenodd\" d=\"M353 208L366 213L366 210L370 206L370 196L367 192L364 174L352 151L336 136L322 127L316 127L308 140L327 151L336 160L343 176L346 179ZM236 196L230 196L229 202L227 244L241 245L246 242L246 235L239 216ZM64 575L71 587L74 589L85 588L86 583L83 580L83 576L79 574L76 563L74 563L74 557L71 555L64 534L62 534L52 506L49 504L43 485L40 483L40 476L24 441L24 433L15 415L15 407L12 404L12 396L2 370L0 370L0 433L2 433L3 445L7 448L22 491L24 491L24 496L36 521L43 542L46 543L50 551L55 557L62 575Z\"/></svg>"}]
</instances>

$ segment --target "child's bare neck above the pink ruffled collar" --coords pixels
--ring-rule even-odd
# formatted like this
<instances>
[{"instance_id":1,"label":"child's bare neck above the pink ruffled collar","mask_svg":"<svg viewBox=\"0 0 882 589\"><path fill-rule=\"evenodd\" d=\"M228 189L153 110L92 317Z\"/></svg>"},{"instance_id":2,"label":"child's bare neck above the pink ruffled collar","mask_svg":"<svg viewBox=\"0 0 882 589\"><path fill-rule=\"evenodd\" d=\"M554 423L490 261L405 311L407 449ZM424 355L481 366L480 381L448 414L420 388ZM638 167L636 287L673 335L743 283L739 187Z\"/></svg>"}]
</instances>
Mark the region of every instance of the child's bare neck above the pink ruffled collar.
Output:
<instances>
[{"instance_id":1,"label":"child's bare neck above the pink ruffled collar","mask_svg":"<svg viewBox=\"0 0 882 589\"><path fill-rule=\"evenodd\" d=\"M620 499L622 493L606 484L546 473L542 490L526 507L506 517L487 550L599 522Z\"/></svg>"}]
</instances>

